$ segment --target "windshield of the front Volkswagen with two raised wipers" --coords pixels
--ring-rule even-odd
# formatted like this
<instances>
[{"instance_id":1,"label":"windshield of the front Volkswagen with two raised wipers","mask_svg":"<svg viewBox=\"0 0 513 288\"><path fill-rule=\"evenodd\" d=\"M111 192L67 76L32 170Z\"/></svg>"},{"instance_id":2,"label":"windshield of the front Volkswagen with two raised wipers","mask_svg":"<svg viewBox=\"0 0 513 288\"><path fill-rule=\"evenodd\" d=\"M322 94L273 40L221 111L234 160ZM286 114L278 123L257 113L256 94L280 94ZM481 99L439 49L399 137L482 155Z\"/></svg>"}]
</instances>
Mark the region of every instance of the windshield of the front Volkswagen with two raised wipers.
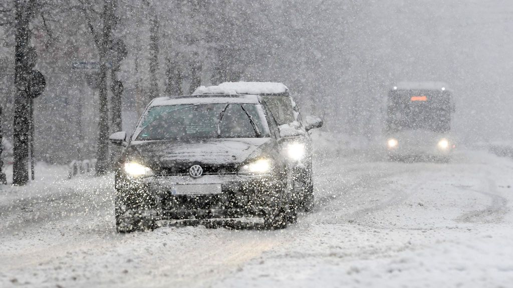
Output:
<instances>
[{"instance_id":1,"label":"windshield of the front Volkswagen with two raised wipers","mask_svg":"<svg viewBox=\"0 0 513 288\"><path fill-rule=\"evenodd\" d=\"M135 140L269 136L262 109L254 104L156 106L148 110L137 131Z\"/></svg>"}]
</instances>

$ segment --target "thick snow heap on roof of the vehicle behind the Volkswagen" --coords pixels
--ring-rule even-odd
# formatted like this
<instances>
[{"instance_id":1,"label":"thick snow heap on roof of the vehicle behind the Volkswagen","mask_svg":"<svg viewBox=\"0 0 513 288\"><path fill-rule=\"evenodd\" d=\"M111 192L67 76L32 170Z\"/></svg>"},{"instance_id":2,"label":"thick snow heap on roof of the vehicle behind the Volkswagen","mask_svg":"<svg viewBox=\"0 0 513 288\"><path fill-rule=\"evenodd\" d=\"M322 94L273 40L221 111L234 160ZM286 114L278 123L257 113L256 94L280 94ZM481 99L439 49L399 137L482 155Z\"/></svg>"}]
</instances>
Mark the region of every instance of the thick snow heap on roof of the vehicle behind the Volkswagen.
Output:
<instances>
[{"instance_id":1,"label":"thick snow heap on roof of the vehicle behind the Volkswagen","mask_svg":"<svg viewBox=\"0 0 513 288\"><path fill-rule=\"evenodd\" d=\"M201 86L192 93L200 94L287 94L287 86L276 82L225 82L217 86Z\"/></svg>"}]
</instances>

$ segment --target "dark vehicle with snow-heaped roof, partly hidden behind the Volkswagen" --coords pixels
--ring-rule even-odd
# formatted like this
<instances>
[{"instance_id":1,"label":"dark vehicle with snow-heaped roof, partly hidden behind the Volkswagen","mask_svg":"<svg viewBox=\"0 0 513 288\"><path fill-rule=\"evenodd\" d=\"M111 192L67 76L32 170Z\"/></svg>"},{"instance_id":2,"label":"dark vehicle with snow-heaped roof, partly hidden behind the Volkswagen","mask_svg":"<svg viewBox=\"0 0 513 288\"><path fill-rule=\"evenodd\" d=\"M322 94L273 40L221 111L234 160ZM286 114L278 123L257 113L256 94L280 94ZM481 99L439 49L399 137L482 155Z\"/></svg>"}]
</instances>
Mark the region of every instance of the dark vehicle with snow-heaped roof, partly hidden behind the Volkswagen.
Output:
<instances>
[{"instance_id":1,"label":"dark vehicle with snow-heaped roof, partly hidden behind the Volkswagen","mask_svg":"<svg viewBox=\"0 0 513 288\"><path fill-rule=\"evenodd\" d=\"M312 140L310 130L323 126L323 120L302 118L288 88L274 82L225 82L218 86L200 87L194 94L210 93L260 95L263 104L272 113L282 138L282 153L293 167L294 194L298 207L313 208Z\"/></svg>"}]
</instances>

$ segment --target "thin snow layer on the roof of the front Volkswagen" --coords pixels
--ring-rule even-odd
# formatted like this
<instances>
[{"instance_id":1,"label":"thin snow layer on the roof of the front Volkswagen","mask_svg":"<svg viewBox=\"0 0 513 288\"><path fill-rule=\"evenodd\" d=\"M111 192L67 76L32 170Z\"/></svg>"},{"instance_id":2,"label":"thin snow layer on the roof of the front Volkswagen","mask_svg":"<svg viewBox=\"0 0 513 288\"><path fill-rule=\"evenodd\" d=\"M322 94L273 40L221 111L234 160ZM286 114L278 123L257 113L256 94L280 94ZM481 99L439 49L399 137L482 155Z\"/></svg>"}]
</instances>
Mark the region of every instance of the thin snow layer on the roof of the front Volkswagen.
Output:
<instances>
[{"instance_id":1,"label":"thin snow layer on the roof of the front Volkswagen","mask_svg":"<svg viewBox=\"0 0 513 288\"><path fill-rule=\"evenodd\" d=\"M242 103L242 104L258 104L257 95L186 95L178 97L159 97L153 99L150 107L167 106L180 104L210 104L210 103Z\"/></svg>"}]
</instances>

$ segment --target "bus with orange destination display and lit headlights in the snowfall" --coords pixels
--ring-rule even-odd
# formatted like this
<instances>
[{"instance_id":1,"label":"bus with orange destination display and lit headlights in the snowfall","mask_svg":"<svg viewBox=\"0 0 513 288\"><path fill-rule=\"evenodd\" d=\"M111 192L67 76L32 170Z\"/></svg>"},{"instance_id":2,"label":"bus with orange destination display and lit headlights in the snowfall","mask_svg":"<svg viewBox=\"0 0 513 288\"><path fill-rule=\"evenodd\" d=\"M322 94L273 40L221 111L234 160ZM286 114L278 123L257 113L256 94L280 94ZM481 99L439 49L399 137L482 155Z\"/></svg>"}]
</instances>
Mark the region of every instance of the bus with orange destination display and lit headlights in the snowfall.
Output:
<instances>
[{"instance_id":1,"label":"bus with orange destination display and lit headlights in the snowfall","mask_svg":"<svg viewBox=\"0 0 513 288\"><path fill-rule=\"evenodd\" d=\"M390 160L429 157L449 160L455 111L451 92L441 82L401 82L387 98L384 134Z\"/></svg>"}]
</instances>

